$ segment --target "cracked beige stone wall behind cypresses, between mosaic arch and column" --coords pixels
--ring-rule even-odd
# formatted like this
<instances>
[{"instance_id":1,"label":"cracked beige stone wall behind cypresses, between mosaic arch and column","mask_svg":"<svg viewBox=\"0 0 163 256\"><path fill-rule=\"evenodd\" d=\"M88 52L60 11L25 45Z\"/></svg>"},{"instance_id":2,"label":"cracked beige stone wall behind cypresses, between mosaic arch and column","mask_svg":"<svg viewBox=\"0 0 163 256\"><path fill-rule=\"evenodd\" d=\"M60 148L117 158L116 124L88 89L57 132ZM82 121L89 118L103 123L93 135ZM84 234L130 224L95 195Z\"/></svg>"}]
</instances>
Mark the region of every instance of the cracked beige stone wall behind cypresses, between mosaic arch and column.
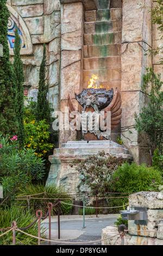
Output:
<instances>
[{"instance_id":1,"label":"cracked beige stone wall behind cypresses, between mosaic arch and column","mask_svg":"<svg viewBox=\"0 0 163 256\"><path fill-rule=\"evenodd\" d=\"M8 4L20 15L32 40L32 54L22 54L25 75L24 89L28 97L37 99L39 69L46 44L49 82L49 101L59 108L60 87L60 1L59 0L9 0ZM20 24L21 26L21 24ZM13 57L11 57L13 61Z\"/></svg>"}]
</instances>

